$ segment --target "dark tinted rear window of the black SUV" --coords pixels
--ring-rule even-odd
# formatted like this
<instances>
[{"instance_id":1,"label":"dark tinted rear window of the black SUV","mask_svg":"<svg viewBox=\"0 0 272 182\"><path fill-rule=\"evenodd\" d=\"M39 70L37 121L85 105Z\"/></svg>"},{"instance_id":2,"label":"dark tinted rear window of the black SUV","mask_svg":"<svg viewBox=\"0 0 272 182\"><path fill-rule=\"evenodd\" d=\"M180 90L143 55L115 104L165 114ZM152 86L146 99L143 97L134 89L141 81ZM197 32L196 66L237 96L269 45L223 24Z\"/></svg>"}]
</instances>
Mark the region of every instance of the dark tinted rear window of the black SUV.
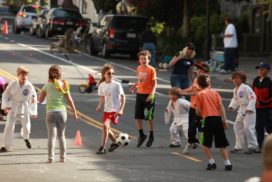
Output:
<instances>
[{"instance_id":1,"label":"dark tinted rear window of the black SUV","mask_svg":"<svg viewBox=\"0 0 272 182\"><path fill-rule=\"evenodd\" d=\"M115 21L115 27L118 29L142 31L146 27L146 19L138 17L118 17Z\"/></svg>"}]
</instances>

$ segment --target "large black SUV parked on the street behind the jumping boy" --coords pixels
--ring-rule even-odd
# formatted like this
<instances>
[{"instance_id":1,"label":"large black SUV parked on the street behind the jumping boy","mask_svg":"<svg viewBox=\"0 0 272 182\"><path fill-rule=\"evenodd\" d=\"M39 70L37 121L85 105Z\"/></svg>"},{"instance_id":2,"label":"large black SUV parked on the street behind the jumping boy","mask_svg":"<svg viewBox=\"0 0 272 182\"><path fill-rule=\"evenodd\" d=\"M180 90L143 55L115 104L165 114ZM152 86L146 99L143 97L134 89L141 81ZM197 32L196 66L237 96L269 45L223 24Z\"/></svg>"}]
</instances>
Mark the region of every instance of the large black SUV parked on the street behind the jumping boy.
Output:
<instances>
[{"instance_id":1,"label":"large black SUV parked on the street behind the jumping boy","mask_svg":"<svg viewBox=\"0 0 272 182\"><path fill-rule=\"evenodd\" d=\"M107 58L110 54L121 53L136 57L146 23L147 19L141 16L105 16L92 33L90 54L102 52L103 57Z\"/></svg>"}]
</instances>

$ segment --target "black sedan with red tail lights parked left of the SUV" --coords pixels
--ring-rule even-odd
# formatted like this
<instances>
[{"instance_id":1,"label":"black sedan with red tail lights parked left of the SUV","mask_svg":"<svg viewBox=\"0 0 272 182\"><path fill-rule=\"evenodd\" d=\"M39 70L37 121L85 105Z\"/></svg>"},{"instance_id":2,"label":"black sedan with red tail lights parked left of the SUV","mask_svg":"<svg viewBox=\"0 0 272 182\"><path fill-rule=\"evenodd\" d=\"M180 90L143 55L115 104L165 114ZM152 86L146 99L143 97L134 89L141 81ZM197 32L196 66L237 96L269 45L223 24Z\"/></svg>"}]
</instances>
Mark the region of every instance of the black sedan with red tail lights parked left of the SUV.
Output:
<instances>
[{"instance_id":1,"label":"black sedan with red tail lights parked left of the SUV","mask_svg":"<svg viewBox=\"0 0 272 182\"><path fill-rule=\"evenodd\" d=\"M82 17L78 11L53 8L46 14L46 26L44 34L46 38L52 35L64 34L66 30L78 27L87 27L87 21Z\"/></svg>"}]
</instances>

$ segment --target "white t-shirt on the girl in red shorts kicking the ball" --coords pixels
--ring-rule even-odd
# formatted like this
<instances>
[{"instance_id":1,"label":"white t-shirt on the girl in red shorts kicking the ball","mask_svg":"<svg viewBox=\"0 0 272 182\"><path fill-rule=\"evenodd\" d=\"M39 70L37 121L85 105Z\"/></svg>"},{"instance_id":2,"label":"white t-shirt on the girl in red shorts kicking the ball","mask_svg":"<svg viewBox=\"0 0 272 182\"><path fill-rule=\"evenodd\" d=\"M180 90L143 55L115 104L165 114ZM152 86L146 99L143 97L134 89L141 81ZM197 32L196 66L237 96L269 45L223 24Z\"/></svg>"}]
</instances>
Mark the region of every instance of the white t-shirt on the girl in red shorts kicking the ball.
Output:
<instances>
[{"instance_id":1,"label":"white t-shirt on the girl in red shorts kicking the ball","mask_svg":"<svg viewBox=\"0 0 272 182\"><path fill-rule=\"evenodd\" d=\"M121 104L121 95L124 95L122 85L116 81L100 83L98 95L105 97L104 112L117 112Z\"/></svg>"}]
</instances>

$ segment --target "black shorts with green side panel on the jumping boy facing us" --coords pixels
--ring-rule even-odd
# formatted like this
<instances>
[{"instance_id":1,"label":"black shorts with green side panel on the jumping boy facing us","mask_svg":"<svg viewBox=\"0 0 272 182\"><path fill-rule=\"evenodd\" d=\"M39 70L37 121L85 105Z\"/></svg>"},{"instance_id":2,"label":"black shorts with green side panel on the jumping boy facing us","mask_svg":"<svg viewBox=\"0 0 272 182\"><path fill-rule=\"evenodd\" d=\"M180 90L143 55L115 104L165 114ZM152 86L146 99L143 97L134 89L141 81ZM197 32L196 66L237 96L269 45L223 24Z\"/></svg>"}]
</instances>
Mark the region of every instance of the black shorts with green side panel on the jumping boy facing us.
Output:
<instances>
[{"instance_id":1,"label":"black shorts with green side panel on the jumping boy facing us","mask_svg":"<svg viewBox=\"0 0 272 182\"><path fill-rule=\"evenodd\" d=\"M149 94L139 94L136 95L136 104L135 104L135 119L145 119L153 120L154 110L155 110L155 96L151 99L150 102L146 102Z\"/></svg>"}]
</instances>

